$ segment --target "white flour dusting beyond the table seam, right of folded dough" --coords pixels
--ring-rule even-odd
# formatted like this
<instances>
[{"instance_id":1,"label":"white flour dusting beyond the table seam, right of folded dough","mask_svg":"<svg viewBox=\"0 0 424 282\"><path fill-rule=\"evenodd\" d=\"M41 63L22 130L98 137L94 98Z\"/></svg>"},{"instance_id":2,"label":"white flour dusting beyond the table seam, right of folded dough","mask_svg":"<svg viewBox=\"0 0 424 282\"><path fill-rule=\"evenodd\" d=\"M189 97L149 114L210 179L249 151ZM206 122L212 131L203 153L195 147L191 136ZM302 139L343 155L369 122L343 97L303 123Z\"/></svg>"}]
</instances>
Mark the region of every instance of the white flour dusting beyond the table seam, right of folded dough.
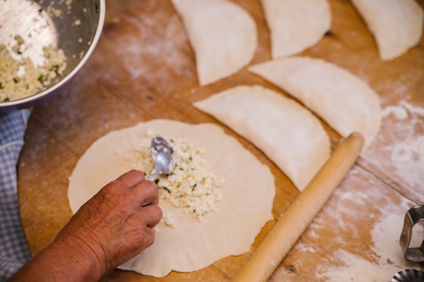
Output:
<instances>
[{"instance_id":1,"label":"white flour dusting beyond the table seam, right of folded dough","mask_svg":"<svg viewBox=\"0 0 424 282\"><path fill-rule=\"evenodd\" d=\"M382 128L360 164L415 202L424 202L424 108L401 100L382 111ZM365 162L364 162L365 161Z\"/></svg>"}]
</instances>

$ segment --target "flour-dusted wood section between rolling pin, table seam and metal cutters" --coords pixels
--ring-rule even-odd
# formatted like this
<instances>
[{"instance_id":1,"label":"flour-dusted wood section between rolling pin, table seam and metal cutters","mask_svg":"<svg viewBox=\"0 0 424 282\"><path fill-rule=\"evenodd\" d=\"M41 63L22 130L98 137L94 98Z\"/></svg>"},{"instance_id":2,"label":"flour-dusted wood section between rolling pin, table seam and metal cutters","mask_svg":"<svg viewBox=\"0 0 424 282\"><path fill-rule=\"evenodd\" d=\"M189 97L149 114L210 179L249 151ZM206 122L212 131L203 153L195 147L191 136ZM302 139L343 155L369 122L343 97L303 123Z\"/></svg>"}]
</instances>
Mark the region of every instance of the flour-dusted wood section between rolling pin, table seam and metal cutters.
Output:
<instances>
[{"instance_id":1,"label":"flour-dusted wood section between rolling pin, table seam and metal cutters","mask_svg":"<svg viewBox=\"0 0 424 282\"><path fill-rule=\"evenodd\" d=\"M404 260L399 245L404 216L415 205L354 166L283 261L293 270L280 268L271 281L388 282L402 269L420 269ZM423 242L423 226L414 227L412 247Z\"/></svg>"}]
</instances>

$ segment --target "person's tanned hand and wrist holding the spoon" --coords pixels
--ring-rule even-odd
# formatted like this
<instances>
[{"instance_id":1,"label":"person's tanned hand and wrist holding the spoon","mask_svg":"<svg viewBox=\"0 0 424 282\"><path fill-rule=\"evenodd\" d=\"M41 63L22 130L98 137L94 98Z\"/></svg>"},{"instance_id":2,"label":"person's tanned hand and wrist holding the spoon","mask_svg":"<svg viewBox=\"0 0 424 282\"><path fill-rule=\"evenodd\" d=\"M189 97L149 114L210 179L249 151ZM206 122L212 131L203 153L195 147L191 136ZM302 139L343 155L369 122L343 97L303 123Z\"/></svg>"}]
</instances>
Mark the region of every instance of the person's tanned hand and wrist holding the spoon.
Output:
<instances>
[{"instance_id":1,"label":"person's tanned hand and wrist holding the spoon","mask_svg":"<svg viewBox=\"0 0 424 282\"><path fill-rule=\"evenodd\" d=\"M153 244L158 201L155 183L140 171L125 173L83 204L10 281L97 281Z\"/></svg>"}]
</instances>

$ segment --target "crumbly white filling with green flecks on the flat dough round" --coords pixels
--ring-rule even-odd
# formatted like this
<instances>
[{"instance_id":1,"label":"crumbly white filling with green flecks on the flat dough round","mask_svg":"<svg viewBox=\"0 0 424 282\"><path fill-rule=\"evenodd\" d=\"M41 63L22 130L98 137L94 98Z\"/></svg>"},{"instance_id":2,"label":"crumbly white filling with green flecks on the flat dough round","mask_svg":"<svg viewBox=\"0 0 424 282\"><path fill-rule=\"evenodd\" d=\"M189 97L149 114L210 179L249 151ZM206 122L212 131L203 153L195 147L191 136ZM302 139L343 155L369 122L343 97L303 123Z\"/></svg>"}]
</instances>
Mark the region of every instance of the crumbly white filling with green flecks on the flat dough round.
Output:
<instances>
[{"instance_id":1,"label":"crumbly white filling with green flecks on the flat dough round","mask_svg":"<svg viewBox=\"0 0 424 282\"><path fill-rule=\"evenodd\" d=\"M161 174L155 180L159 187L160 200L185 209L187 214L192 214L195 219L202 221L209 212L216 212L216 202L223 198L220 191L225 188L224 180L218 179L202 159L204 149L194 146L187 137L169 139L167 142L175 157L175 167L172 173ZM139 145L134 149L134 155L135 158L131 158L134 161L131 166L143 171L147 178L155 165L151 148ZM172 214L165 215L164 222L167 226L177 226Z\"/></svg>"}]
</instances>

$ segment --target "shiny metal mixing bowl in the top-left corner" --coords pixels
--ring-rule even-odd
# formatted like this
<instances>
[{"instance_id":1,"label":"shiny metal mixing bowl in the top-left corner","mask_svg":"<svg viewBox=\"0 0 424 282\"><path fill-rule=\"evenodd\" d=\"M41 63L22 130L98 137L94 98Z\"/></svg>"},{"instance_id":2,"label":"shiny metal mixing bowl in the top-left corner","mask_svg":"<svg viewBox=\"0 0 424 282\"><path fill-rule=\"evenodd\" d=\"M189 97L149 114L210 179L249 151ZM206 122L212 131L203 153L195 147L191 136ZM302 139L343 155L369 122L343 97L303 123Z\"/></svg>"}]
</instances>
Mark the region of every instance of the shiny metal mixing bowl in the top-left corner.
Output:
<instances>
[{"instance_id":1,"label":"shiny metal mixing bowl in the top-left corner","mask_svg":"<svg viewBox=\"0 0 424 282\"><path fill-rule=\"evenodd\" d=\"M93 52L104 19L105 0L0 0L0 44L6 45L12 56L14 37L20 35L25 42L22 56L36 65L42 64L42 48L48 45L63 49L67 57L64 74L45 90L1 102L0 111L28 108L59 93Z\"/></svg>"}]
</instances>

